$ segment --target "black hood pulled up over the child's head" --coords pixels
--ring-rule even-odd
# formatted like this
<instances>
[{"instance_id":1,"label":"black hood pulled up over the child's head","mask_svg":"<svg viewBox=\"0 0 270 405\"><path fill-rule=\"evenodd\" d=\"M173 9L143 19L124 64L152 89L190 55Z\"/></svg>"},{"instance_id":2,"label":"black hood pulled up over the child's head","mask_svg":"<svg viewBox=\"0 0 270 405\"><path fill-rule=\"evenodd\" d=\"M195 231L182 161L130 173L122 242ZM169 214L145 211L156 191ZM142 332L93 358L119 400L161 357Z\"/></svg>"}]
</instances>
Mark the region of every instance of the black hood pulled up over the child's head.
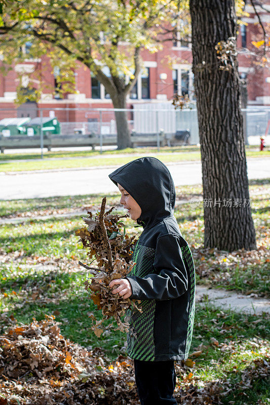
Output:
<instances>
[{"instance_id":1,"label":"black hood pulled up over the child's head","mask_svg":"<svg viewBox=\"0 0 270 405\"><path fill-rule=\"evenodd\" d=\"M109 174L141 208L137 224L148 228L173 215L175 188L167 167L156 157L140 157Z\"/></svg>"}]
</instances>

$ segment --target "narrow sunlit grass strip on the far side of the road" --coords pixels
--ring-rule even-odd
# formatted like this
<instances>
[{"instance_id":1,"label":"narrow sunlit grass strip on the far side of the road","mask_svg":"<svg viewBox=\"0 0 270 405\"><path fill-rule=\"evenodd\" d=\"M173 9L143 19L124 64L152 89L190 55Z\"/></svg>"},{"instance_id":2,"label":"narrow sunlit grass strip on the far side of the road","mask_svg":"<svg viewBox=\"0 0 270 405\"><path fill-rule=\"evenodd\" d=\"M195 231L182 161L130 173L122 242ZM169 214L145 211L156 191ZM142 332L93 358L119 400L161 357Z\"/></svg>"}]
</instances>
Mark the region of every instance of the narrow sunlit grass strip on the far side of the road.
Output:
<instances>
[{"instance_id":1,"label":"narrow sunlit grass strip on the far side of the road","mask_svg":"<svg viewBox=\"0 0 270 405\"><path fill-rule=\"evenodd\" d=\"M104 151L102 156L97 151L47 152L44 154L43 160L37 154L1 154L0 172L119 166L133 160L134 153L137 154L136 157L144 156L145 154L155 156L164 163L201 159L200 148L197 146L164 147L160 152L157 148L128 148L124 150ZM126 156L119 156L119 154ZM251 148L246 149L246 154L247 157L270 156L270 152L267 150L260 152ZM22 159L30 159L30 161L22 161Z\"/></svg>"}]
</instances>

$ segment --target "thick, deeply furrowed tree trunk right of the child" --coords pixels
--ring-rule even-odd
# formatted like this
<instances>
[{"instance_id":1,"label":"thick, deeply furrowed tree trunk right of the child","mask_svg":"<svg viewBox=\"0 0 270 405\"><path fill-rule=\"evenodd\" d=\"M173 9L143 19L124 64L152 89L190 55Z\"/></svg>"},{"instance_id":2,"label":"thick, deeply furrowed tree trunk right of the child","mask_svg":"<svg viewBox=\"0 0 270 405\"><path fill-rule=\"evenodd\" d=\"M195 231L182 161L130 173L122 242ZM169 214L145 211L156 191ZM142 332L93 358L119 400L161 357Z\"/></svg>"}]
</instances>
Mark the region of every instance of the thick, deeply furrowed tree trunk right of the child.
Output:
<instances>
[{"instance_id":1,"label":"thick, deeply furrowed tree trunk right of the child","mask_svg":"<svg viewBox=\"0 0 270 405\"><path fill-rule=\"evenodd\" d=\"M256 249L240 110L234 0L190 0L206 248ZM232 38L224 62L215 45ZM223 70L220 69L223 67ZM226 70L228 69L228 70ZM231 205L231 207L230 207Z\"/></svg>"}]
</instances>

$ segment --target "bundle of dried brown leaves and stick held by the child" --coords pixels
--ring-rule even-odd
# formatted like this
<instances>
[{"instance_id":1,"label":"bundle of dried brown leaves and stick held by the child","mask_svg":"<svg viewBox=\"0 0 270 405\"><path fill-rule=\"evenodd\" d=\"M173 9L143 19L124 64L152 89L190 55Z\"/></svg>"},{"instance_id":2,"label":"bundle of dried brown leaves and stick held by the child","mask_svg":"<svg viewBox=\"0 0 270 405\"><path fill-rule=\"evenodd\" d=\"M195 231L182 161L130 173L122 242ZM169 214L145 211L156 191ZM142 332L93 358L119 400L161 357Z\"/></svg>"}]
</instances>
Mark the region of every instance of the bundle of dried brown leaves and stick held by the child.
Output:
<instances>
[{"instance_id":1,"label":"bundle of dried brown leaves and stick held by the child","mask_svg":"<svg viewBox=\"0 0 270 405\"><path fill-rule=\"evenodd\" d=\"M91 315L92 322L95 321L92 328L98 337L103 333L102 323L105 319L112 318L117 321L118 328L114 330L128 332L127 317L122 321L121 316L124 316L129 308L141 311L134 300L112 294L112 289L108 286L111 280L125 277L135 266L131 257L136 240L135 236L129 237L126 234L125 224L121 221L121 218L128 215L111 214L114 207L105 212L105 206L106 197L102 199L100 212L97 212L95 218L91 212L88 212L89 217L83 218L88 227L78 229L75 233L76 236L80 236L89 259L95 258L98 263L97 267L91 267L79 262L92 274L92 277L85 281L85 289L97 305L96 309L101 309L103 315L100 320ZM112 323L106 329L110 327Z\"/></svg>"}]
</instances>

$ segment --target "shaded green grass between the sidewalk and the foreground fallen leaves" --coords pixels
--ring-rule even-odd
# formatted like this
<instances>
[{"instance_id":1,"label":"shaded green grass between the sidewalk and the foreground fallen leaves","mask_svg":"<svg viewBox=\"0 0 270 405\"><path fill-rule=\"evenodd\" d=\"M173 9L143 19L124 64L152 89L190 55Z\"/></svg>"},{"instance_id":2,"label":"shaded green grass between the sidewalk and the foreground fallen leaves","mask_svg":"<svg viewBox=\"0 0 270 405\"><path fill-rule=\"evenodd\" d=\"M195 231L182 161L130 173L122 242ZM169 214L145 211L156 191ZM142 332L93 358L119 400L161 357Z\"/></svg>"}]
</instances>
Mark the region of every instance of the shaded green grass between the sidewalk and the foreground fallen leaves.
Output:
<instances>
[{"instance_id":1,"label":"shaded green grass between the sidewalk and the foreground fallen leaves","mask_svg":"<svg viewBox=\"0 0 270 405\"><path fill-rule=\"evenodd\" d=\"M112 355L114 350L110 350L110 340L118 341L122 338L119 342L120 348L123 346L125 334L111 331L110 339L103 335L99 339L91 331L89 312L94 311L98 319L101 318L101 312L95 310L83 289L83 280L88 275L87 271L74 269L71 266L44 271L42 268L35 269L31 265L9 265L5 270L2 268L0 273L3 293L0 311L8 309L7 315L12 314L18 322L29 322L33 316L40 320L45 317L45 314L55 313L56 320L62 322L61 330L66 337L84 346L100 345ZM0 325L3 328L3 320ZM257 316L239 314L230 310L224 313L205 301L196 311L190 353L192 349L203 343L211 346L208 348L207 357L210 355L210 358L217 360L221 352L212 345L211 339L215 338L221 343L229 340L236 341L241 337L240 340L245 344L245 341L258 336L266 339L270 333L269 328L266 314ZM239 356L241 357L240 354ZM198 365L202 371L208 366L212 377L217 378L218 368L210 366L209 360L203 357L197 360ZM233 365L227 364L226 367L227 371L231 371ZM200 378L205 378L203 372Z\"/></svg>"}]
</instances>

